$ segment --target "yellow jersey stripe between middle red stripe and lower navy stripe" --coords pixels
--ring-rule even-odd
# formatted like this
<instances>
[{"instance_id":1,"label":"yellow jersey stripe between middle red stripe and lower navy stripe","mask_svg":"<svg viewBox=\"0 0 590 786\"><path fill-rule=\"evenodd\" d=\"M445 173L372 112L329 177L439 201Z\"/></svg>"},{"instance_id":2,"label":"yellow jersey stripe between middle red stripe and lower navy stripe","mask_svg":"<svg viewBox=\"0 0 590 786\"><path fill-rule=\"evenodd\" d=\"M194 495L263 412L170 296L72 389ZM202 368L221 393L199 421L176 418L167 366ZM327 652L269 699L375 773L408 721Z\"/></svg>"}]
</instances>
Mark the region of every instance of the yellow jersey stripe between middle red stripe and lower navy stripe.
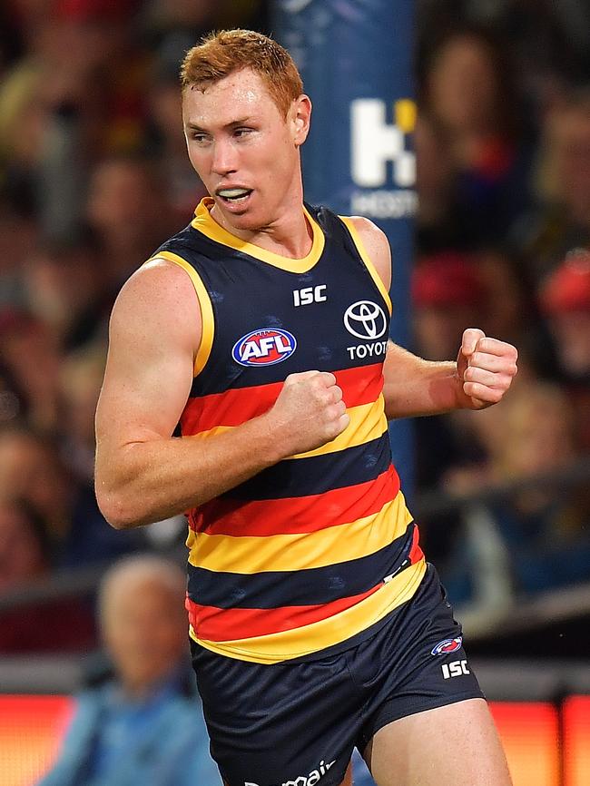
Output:
<instances>
[{"instance_id":1,"label":"yellow jersey stripe between middle red stripe and lower navy stripe","mask_svg":"<svg viewBox=\"0 0 590 786\"><path fill-rule=\"evenodd\" d=\"M379 513L316 532L290 535L207 535L192 530L189 562L220 573L309 570L375 554L400 535L412 520L403 494Z\"/></svg>"}]
</instances>

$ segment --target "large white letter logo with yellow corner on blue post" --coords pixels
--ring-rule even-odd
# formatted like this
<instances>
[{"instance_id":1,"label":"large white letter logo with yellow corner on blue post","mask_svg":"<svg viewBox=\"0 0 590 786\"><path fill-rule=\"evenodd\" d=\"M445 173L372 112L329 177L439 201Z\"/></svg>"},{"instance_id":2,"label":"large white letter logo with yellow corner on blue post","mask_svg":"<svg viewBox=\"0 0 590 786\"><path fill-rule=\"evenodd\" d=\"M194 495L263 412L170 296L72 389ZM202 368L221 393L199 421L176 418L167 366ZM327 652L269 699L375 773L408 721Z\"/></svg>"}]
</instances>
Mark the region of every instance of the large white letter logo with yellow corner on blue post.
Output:
<instances>
[{"instance_id":1,"label":"large white letter logo with yellow corner on blue post","mask_svg":"<svg viewBox=\"0 0 590 786\"><path fill-rule=\"evenodd\" d=\"M406 149L416 124L416 104L409 99L393 106L395 123L386 122L387 104L379 98L358 98L350 104L352 180L363 188L387 182L387 162L393 162L396 185L416 182L416 155Z\"/></svg>"}]
</instances>

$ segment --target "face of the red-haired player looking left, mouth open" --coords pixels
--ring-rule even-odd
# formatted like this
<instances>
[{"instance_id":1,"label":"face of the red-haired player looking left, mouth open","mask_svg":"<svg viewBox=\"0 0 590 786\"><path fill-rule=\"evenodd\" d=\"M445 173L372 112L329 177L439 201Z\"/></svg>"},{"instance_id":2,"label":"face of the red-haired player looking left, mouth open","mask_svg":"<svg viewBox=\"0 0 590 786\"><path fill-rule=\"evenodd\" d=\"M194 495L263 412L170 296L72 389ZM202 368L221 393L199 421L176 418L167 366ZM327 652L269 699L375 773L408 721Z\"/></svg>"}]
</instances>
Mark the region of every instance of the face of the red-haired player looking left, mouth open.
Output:
<instances>
[{"instance_id":1,"label":"face of the red-haired player looking left, mouth open","mask_svg":"<svg viewBox=\"0 0 590 786\"><path fill-rule=\"evenodd\" d=\"M246 68L204 90L185 88L182 118L192 166L223 226L259 230L300 203L307 96L291 103L285 118L261 77Z\"/></svg>"}]
</instances>

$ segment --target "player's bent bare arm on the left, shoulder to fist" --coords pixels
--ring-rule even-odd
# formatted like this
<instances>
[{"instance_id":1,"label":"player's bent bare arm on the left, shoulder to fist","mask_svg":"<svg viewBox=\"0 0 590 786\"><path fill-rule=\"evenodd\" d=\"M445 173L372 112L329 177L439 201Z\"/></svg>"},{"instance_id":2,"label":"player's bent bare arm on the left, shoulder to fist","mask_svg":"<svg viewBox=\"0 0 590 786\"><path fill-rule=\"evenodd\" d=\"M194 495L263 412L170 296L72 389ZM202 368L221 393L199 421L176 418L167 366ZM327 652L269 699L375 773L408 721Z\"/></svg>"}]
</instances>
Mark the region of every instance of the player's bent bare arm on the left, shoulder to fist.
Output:
<instances>
[{"instance_id":1,"label":"player's bent bare arm on the left, shoulder to fist","mask_svg":"<svg viewBox=\"0 0 590 786\"><path fill-rule=\"evenodd\" d=\"M290 375L258 418L206 439L172 437L201 334L192 282L172 262L150 262L123 286L96 411L96 497L117 528L200 505L349 423L333 375L307 371Z\"/></svg>"}]
</instances>

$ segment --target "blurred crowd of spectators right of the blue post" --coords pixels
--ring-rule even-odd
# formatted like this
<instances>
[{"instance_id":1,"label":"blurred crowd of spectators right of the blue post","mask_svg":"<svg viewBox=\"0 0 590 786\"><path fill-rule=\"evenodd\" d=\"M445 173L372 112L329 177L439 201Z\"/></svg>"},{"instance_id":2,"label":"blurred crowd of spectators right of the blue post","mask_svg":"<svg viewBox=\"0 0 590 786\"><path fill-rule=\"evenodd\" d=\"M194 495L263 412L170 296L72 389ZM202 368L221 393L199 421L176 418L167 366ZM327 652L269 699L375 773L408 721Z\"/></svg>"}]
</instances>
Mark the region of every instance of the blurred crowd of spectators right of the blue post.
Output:
<instances>
[{"instance_id":1,"label":"blurred crowd of spectators right of the blue post","mask_svg":"<svg viewBox=\"0 0 590 786\"><path fill-rule=\"evenodd\" d=\"M481 621L590 580L590 7L418 8L415 349L475 325L520 353L499 407L416 422L419 489L465 498L426 552Z\"/></svg>"}]
</instances>

